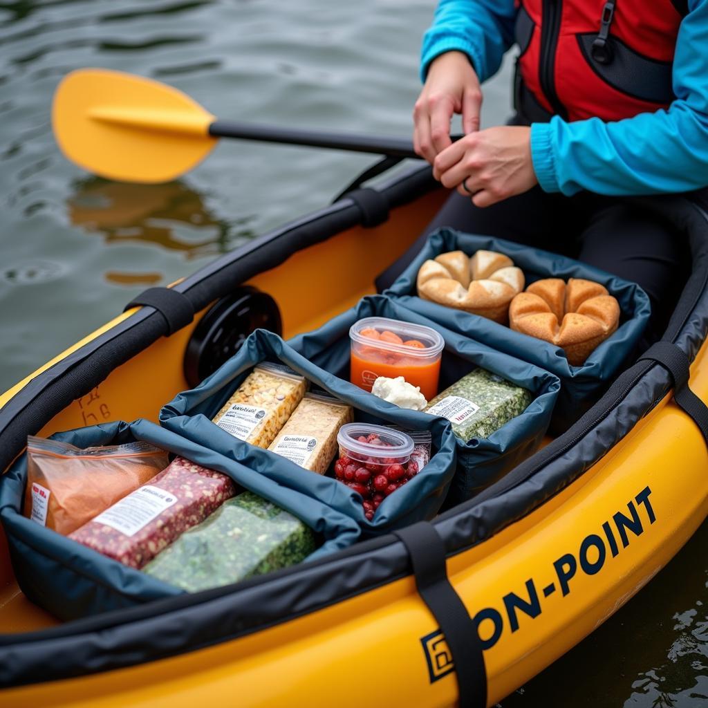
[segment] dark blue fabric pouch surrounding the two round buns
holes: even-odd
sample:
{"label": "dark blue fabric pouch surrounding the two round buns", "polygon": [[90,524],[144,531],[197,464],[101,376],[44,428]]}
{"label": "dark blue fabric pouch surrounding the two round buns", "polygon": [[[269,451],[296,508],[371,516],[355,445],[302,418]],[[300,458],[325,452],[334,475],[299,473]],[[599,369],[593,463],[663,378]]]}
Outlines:
{"label": "dark blue fabric pouch surrounding the two round buns", "polygon": [[[561,348],[547,341],[416,295],[418,270],[429,258],[458,250],[472,256],[480,249],[509,256],[514,265],[523,270],[526,285],[542,278],[584,278],[604,285],[619,303],[621,314],[617,331],[600,343],[582,365],[573,366]],[[650,314],[649,297],[633,282],[548,251],[446,228],[430,235],[421,253],[384,294],[447,329],[472,336],[493,349],[535,364],[559,377],[561,391],[551,426],[554,433],[569,428],[599,398],[634,353]]]}

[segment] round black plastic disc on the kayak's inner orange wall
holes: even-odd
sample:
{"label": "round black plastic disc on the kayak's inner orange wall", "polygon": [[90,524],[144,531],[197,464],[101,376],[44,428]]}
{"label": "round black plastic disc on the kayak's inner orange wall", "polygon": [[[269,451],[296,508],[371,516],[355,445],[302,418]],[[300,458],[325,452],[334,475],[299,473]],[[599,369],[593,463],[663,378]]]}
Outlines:
{"label": "round black plastic disc on the kayak's inner orange wall", "polygon": [[184,375],[197,386],[231,358],[255,329],[282,334],[280,309],[273,297],[244,285],[222,297],[195,327],[184,354]]}

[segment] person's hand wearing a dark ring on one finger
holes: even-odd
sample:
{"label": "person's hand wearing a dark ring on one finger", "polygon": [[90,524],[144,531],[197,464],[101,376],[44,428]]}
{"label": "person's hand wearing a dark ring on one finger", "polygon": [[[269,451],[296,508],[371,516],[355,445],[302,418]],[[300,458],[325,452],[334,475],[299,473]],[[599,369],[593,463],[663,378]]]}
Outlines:
{"label": "person's hand wearing a dark ring on one finger", "polygon": [[457,187],[478,207],[489,207],[538,183],[531,159],[531,129],[502,125],[470,133],[433,161],[433,176]]}

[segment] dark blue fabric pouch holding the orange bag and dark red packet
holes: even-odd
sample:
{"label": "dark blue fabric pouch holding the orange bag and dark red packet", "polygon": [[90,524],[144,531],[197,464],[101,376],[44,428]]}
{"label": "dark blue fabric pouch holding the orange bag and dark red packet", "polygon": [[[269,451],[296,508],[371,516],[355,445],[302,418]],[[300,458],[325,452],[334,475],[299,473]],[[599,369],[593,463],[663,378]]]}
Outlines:
{"label": "dark blue fabric pouch holding the orange bag and dark red packet", "polygon": [[[216,517],[222,510],[232,515],[240,513],[244,508],[247,512],[249,503],[252,505],[251,510],[253,510],[253,506],[258,507],[261,516],[263,516],[263,508],[269,509],[270,512],[275,510],[276,513],[280,513],[280,509],[285,510],[289,513],[287,518],[292,521],[291,528],[292,525],[297,525],[300,529],[303,528],[302,525],[297,524],[297,519],[299,519],[314,531],[314,538],[320,543],[319,548],[307,556],[307,560],[348,547],[360,536],[360,528],[351,518],[331,508],[325,502],[318,501],[312,496],[292,489],[292,487],[289,488],[287,476],[280,476],[278,470],[273,470],[268,475],[259,474],[245,465],[235,462],[234,459],[219,455],[218,452],[208,450],[206,447],[181,438],[176,433],[148,421],[104,423],[100,426],[58,433],[52,436],[52,439],[69,442],[80,448],[123,445],[139,440],[201,465],[207,468],[206,472],[222,473],[234,483],[232,486],[228,480],[219,478],[222,480],[222,484],[229,486],[229,495],[238,496],[232,496],[229,500],[224,501],[215,513],[207,517],[207,523],[212,519],[215,520],[215,523],[219,523]],[[156,554],[152,563],[145,566],[145,570],[152,573],[148,574],[148,572],[137,570],[99,553],[91,547],[87,547],[71,537],[61,535],[23,515],[27,476],[28,464],[25,453],[16,460],[0,481],[0,518],[6,531],[18,583],[23,593],[34,603],[44,607],[60,619],[77,619],[185,592],[183,583],[178,583],[180,586],[175,586],[159,578],[171,576],[168,554],[173,556],[171,565],[174,567],[176,563],[181,561],[180,557],[174,557],[176,553],[180,552],[178,544],[187,538],[190,532],[198,530],[200,527],[195,526],[185,531],[170,546]],[[212,476],[218,477],[216,474],[212,474]],[[155,486],[158,484],[158,481],[154,481]],[[244,490],[253,492],[260,499],[244,493]],[[190,495],[188,494],[188,496]],[[168,498],[166,503],[171,503],[171,501],[173,500]],[[212,499],[215,504],[221,501],[223,501],[222,498]],[[233,504],[234,501],[236,501],[235,504]],[[258,506],[261,502],[263,502],[261,506]],[[268,505],[268,502],[280,509]],[[120,502],[118,503],[120,504]],[[239,506],[241,508],[236,508]],[[193,513],[193,511],[189,513]],[[159,517],[157,518],[159,519]],[[223,523],[224,519],[219,516],[219,520]],[[81,527],[81,529],[87,527],[88,525]],[[81,535],[81,529],[76,532],[78,535]],[[113,527],[106,526],[103,530],[111,532]],[[246,533],[245,529],[244,533]],[[196,554],[195,548],[198,547],[198,553],[202,554],[203,558],[207,553],[203,540],[195,537],[195,542],[196,546],[192,544],[191,550],[193,554]],[[293,543],[295,542],[297,539],[293,541]],[[249,543],[253,545],[255,541],[251,539]],[[314,546],[314,541],[312,545],[308,542],[307,549],[311,549],[312,546]],[[231,545],[230,548],[234,549],[234,546]],[[223,547],[219,547],[216,552],[222,550]],[[294,550],[290,548],[282,552]],[[171,553],[173,551],[174,553]],[[190,548],[181,549],[181,553],[181,557],[185,559],[183,562],[183,566],[185,566]],[[239,560],[236,556],[237,551],[234,551],[232,557],[234,563]],[[268,570],[268,560],[265,558],[264,567],[261,567],[258,572]],[[159,566],[156,569],[149,569],[149,566],[154,566],[158,561]],[[218,563],[214,565],[218,566]],[[207,563],[207,566],[202,564],[200,568],[202,572],[208,571],[207,574],[210,576],[206,578],[207,586],[224,584],[214,581],[214,573],[217,570],[215,567]],[[182,580],[186,576],[188,573],[181,573],[176,577]],[[191,578],[188,579],[191,580]],[[201,588],[197,586],[195,589]]]}

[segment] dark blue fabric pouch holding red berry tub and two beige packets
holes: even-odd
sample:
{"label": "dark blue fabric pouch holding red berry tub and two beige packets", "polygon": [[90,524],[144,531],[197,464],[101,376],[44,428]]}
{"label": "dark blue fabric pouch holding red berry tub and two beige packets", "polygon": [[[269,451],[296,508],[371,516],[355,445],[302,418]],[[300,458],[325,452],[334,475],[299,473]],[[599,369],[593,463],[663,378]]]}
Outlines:
{"label": "dark blue fabric pouch holding red berry tub and two beige packets", "polygon": [[[289,367],[309,382],[310,389],[321,389],[339,401],[353,406],[355,421],[399,426],[406,430],[428,431],[431,451],[428,464],[413,479],[394,493],[386,496],[367,518],[359,493],[333,476],[316,474],[303,469],[282,455],[251,445],[212,423],[220,411],[228,410],[227,403],[236,389],[262,362],[275,362]],[[283,391],[282,396],[288,396]],[[258,404],[251,407],[254,416],[262,415]],[[248,415],[246,411],[246,415]],[[415,411],[400,409],[370,393],[362,391],[348,381],[319,368],[309,357],[297,353],[277,335],[256,330],[246,339],[238,353],[224,363],[199,387],[178,394],[160,413],[160,422],[185,438],[217,450],[220,454],[239,461],[245,467],[265,477],[287,478],[287,484],[300,493],[321,500],[328,508],[355,520],[365,535],[389,532],[422,519],[430,519],[438,512],[455,474],[455,435],[449,423]],[[233,423],[232,428],[249,437],[251,424],[246,418]],[[231,427],[232,423],[227,423]],[[261,435],[262,427],[253,427],[253,434]],[[273,431],[271,431],[272,433]],[[305,436],[307,437],[307,435]],[[261,442],[263,440],[254,440]]]}

